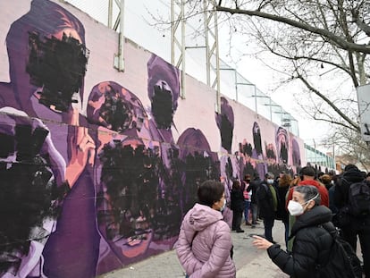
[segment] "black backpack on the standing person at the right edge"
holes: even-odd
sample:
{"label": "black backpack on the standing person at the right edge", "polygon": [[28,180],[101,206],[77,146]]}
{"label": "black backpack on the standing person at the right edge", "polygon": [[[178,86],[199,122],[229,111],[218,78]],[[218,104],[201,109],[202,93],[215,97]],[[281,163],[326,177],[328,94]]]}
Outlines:
{"label": "black backpack on the standing person at the right edge", "polygon": [[370,215],[370,187],[366,181],[349,186],[349,213],[353,216]]}

